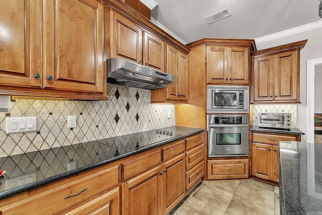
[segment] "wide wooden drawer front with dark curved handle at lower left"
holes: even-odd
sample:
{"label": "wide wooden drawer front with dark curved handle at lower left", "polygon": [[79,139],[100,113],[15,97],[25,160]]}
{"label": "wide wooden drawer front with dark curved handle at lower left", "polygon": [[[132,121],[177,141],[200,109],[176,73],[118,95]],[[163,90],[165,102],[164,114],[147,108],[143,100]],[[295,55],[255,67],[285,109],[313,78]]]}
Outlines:
{"label": "wide wooden drawer front with dark curved handle at lower left", "polygon": [[14,196],[14,200],[8,199],[11,204],[1,203],[4,206],[0,211],[2,214],[53,214],[118,184],[119,165],[98,169],[25,192],[17,201]]}

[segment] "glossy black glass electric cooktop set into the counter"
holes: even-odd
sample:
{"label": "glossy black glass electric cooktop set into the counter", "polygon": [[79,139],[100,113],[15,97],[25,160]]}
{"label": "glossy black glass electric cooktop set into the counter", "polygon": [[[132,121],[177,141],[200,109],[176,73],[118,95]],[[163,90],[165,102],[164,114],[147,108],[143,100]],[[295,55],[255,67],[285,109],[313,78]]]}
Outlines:
{"label": "glossy black glass electric cooktop set into the counter", "polygon": [[176,133],[175,128],[163,128],[101,139],[97,142],[117,150],[116,153],[122,155],[181,135]]}

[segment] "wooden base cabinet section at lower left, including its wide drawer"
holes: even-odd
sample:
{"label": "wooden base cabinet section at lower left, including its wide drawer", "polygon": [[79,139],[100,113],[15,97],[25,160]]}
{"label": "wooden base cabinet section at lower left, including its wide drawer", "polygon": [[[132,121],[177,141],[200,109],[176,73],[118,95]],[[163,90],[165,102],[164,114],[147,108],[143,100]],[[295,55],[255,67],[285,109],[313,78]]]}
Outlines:
{"label": "wooden base cabinet section at lower left, including its wide drawer", "polygon": [[[110,214],[118,214],[119,188],[113,188],[118,186],[118,176],[119,165],[98,167],[4,199],[0,201],[0,212],[65,214],[70,211],[82,213],[81,211],[102,208]],[[109,190],[111,188],[112,191]],[[107,210],[108,207],[111,208]]]}

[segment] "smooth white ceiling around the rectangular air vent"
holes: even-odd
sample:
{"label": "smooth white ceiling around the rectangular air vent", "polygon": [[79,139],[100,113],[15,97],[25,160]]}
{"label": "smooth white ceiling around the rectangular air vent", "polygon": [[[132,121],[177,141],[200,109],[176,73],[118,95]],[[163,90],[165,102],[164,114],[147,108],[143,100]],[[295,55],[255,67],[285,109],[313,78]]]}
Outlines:
{"label": "smooth white ceiling around the rectangular air vent", "polygon": [[[318,0],[154,0],[151,17],[183,42],[204,37],[255,39],[319,21]],[[210,25],[205,17],[229,8]]]}

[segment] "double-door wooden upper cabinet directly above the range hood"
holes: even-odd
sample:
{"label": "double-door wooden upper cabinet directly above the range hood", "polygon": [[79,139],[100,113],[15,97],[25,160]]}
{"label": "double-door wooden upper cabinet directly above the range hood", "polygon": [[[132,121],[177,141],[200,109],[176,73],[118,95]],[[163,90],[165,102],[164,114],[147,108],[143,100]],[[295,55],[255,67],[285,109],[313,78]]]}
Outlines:
{"label": "double-door wooden upper cabinet directly above the range hood", "polygon": [[164,40],[114,11],[107,13],[110,13],[112,22],[111,50],[108,58],[122,57],[164,71]]}

